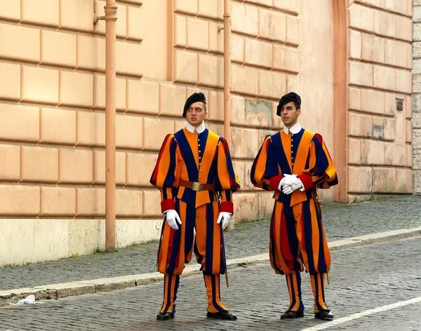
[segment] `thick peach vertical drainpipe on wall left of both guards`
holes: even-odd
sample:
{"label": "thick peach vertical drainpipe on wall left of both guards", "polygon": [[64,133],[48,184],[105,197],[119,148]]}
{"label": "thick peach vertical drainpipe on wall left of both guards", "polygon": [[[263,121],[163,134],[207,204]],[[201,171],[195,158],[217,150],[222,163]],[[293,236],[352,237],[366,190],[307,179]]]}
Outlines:
{"label": "thick peach vertical drainpipe on wall left of both guards", "polygon": [[115,0],[105,8],[105,250],[116,248],[116,20]]}

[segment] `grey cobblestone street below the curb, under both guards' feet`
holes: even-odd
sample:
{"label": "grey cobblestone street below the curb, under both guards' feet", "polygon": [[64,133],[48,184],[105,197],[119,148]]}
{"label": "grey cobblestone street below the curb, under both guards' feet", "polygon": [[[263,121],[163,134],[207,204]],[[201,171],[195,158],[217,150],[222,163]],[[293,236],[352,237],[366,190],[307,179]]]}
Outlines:
{"label": "grey cobblestone street below the curb, under both guards' feet", "polygon": [[[288,304],[285,278],[269,264],[258,264],[230,271],[230,286],[222,287],[222,301],[239,316],[236,322],[206,318],[203,278],[193,276],[180,281],[174,320],[155,319],[162,300],[162,283],[156,283],[25,310],[0,309],[0,330],[421,330],[420,237],[335,251],[332,258],[326,300],[333,322],[313,318],[307,274],[302,275],[305,318],[280,320]],[[415,298],[418,302],[405,303]],[[402,306],[385,307],[398,302]],[[360,312],[370,314],[345,320]]]}

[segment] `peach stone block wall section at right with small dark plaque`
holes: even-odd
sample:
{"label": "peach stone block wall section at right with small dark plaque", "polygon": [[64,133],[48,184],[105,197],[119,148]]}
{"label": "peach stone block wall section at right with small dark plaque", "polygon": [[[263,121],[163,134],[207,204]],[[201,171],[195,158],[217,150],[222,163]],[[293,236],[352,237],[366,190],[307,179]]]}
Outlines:
{"label": "peach stone block wall section at right with small dark plaque", "polygon": [[412,0],[348,5],[348,201],[412,193]]}

